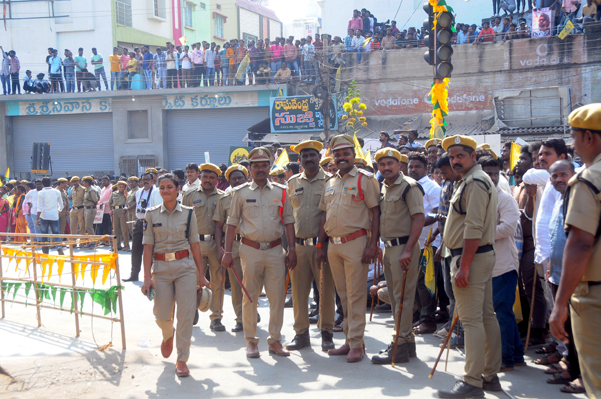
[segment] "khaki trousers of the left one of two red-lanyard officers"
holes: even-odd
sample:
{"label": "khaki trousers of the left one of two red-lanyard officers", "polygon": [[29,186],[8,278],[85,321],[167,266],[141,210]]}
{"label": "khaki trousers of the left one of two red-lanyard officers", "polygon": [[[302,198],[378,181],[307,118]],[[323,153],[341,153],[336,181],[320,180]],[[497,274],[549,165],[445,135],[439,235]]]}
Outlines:
{"label": "khaki trousers of the left one of two red-lanyard officers", "polygon": [[269,338],[271,345],[282,341],[282,325],[284,324],[284,302],[286,300],[285,256],[281,245],[271,249],[255,249],[248,245],[240,245],[240,261],[244,273],[243,284],[251,295],[252,303],[246,296],[242,299],[242,323],[246,343],[258,344],[257,335],[257,303],[261,288],[265,286],[269,300]]}

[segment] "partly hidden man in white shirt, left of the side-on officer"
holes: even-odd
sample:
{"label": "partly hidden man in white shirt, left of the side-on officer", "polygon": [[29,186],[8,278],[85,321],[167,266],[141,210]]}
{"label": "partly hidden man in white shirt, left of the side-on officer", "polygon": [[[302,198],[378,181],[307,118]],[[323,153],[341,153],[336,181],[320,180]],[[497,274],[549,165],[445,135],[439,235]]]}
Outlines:
{"label": "partly hidden man in white shirt, left of the side-on officer", "polygon": [[[434,225],[436,219],[428,216],[428,214],[438,213],[438,206],[441,201],[441,186],[428,177],[428,160],[423,154],[412,152],[407,157],[409,158],[409,166],[407,166],[409,177],[415,179],[424,189],[424,215],[426,218],[424,228],[419,236],[419,246],[421,249],[424,249],[430,228],[436,227]],[[436,252],[436,249],[440,245],[441,237],[436,236],[436,239],[432,242],[433,253]],[[439,267],[440,263],[436,262],[435,270]],[[413,329],[413,334],[430,334],[436,330],[436,297],[433,297],[432,293],[426,288],[425,278],[425,273],[420,270],[417,281],[418,296],[416,297],[416,302],[421,309],[419,315],[420,323]]]}

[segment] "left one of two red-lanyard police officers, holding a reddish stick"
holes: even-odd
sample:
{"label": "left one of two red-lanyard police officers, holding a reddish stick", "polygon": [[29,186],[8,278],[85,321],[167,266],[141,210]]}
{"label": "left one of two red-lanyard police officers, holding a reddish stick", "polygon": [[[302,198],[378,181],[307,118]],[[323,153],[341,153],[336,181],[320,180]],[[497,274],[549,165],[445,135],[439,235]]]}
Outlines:
{"label": "left one of two red-lanyard police officers, holding a reddish stick", "polygon": [[[242,237],[240,261],[244,272],[243,283],[252,297],[252,303],[245,296],[242,300],[246,356],[258,358],[257,347],[257,303],[261,286],[265,286],[269,299],[269,353],[290,356],[282,347],[281,329],[284,323],[284,261],[288,268],[296,266],[296,246],[294,243],[294,216],[290,198],[285,186],[271,183],[268,179],[271,166],[271,152],[264,147],[254,148],[248,154],[251,165],[252,183],[245,183],[234,189],[231,200],[228,228],[225,232],[225,255],[222,264],[233,264],[232,246],[236,230]],[[282,234],[288,237],[288,252],[284,259]],[[365,283],[364,283],[365,285]]]}

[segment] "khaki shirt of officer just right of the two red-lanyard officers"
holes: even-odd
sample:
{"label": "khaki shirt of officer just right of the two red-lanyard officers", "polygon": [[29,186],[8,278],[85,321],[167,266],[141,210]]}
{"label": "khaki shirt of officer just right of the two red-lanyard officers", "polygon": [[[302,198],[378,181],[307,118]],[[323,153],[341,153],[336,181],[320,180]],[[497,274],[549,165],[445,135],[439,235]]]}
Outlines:
{"label": "khaki shirt of officer just right of the two red-lanyard officers", "polygon": [[[403,172],[390,186],[384,180],[380,200],[380,237],[383,241],[409,236],[413,223],[411,217],[424,213],[424,194],[417,184],[417,181],[405,176]],[[401,198],[407,185],[411,188]]]}

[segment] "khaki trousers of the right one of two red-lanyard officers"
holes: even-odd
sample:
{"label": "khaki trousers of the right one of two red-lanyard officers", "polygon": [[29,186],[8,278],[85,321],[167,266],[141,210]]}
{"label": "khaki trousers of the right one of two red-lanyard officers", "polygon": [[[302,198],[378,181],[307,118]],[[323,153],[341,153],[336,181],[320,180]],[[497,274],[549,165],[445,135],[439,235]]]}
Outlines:
{"label": "khaki trousers of the right one of two red-lanyard officers", "polygon": [[344,313],[345,343],[353,349],[364,346],[367,303],[365,282],[369,265],[361,260],[366,246],[367,236],[343,244],[328,245],[328,261]]}

